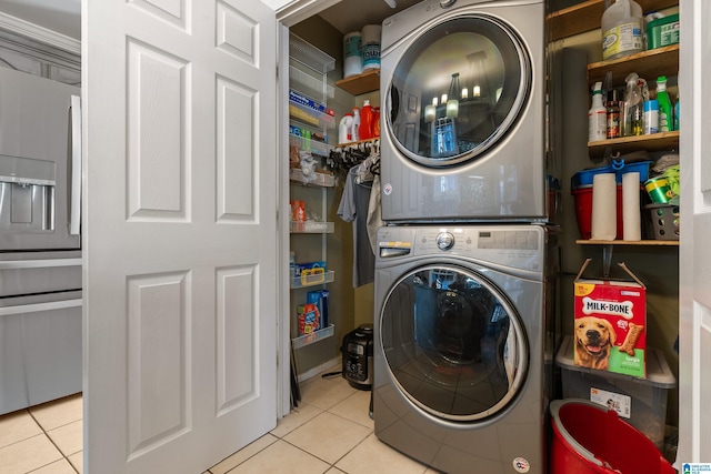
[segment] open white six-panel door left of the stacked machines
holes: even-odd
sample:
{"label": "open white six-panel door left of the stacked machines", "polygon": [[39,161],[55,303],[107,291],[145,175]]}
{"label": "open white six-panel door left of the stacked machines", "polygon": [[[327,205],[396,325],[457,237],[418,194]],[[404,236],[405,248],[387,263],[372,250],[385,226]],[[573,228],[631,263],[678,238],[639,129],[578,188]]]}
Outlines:
{"label": "open white six-panel door left of the stacked machines", "polygon": [[84,473],[203,472],[277,422],[277,21],[82,2]]}

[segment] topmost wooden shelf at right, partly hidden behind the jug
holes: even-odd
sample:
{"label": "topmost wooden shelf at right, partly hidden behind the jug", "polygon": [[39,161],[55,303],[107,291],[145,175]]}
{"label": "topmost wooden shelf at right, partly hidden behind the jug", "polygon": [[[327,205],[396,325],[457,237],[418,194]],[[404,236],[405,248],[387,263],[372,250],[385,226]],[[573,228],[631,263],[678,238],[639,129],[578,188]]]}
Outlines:
{"label": "topmost wooden shelf at right, partly hidden behind the jug", "polygon": [[[635,0],[643,12],[677,7],[679,0]],[[605,0],[588,0],[551,12],[547,17],[549,41],[555,41],[600,28]]]}

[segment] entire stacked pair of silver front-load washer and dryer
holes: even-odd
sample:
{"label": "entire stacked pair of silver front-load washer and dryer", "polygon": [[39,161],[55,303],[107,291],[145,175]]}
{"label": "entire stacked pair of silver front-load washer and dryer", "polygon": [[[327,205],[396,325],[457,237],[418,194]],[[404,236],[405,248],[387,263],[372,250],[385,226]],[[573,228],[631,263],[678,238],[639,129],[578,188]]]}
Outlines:
{"label": "entire stacked pair of silver front-load washer and dryer", "polygon": [[383,22],[373,420],[447,473],[547,472],[544,12],[425,0]]}

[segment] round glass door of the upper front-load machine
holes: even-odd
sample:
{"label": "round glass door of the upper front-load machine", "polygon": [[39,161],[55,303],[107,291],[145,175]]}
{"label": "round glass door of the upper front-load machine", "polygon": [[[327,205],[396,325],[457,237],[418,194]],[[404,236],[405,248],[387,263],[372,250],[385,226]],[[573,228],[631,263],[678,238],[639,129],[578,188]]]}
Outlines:
{"label": "round glass door of the upper front-load machine", "polygon": [[527,49],[501,20],[471,14],[439,23],[393,70],[388,132],[404,155],[427,167],[474,160],[515,123],[531,73]]}

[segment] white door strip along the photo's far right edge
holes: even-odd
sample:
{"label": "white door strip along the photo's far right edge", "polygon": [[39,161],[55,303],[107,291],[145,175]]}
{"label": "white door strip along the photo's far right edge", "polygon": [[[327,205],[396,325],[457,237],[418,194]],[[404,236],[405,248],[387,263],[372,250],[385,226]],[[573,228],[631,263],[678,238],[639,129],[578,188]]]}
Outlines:
{"label": "white door strip along the photo's far right edge", "polygon": [[[711,2],[681,0],[679,465],[711,463]],[[683,471],[685,472],[685,471]]]}

